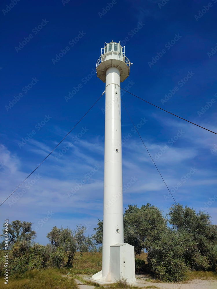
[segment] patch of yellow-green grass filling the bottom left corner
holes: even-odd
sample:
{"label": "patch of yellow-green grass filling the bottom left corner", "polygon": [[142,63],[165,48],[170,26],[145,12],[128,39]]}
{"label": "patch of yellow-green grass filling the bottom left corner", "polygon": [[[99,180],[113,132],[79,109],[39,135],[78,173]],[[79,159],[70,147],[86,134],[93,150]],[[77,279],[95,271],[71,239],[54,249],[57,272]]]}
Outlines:
{"label": "patch of yellow-green grass filling the bottom left corner", "polygon": [[77,289],[73,279],[64,278],[59,275],[56,269],[47,269],[43,271],[27,271],[21,277],[9,277],[9,282],[4,284],[1,278],[1,288],[8,289]]}

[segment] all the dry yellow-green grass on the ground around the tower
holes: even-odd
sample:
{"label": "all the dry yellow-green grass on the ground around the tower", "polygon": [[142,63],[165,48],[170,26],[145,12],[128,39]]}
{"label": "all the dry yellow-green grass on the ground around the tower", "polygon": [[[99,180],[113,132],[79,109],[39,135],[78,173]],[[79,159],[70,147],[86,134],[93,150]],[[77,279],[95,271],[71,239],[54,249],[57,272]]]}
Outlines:
{"label": "all the dry yellow-green grass on the ground around the tower", "polygon": [[[74,278],[84,281],[82,275],[93,275],[102,270],[102,253],[76,253],[76,260],[73,261],[73,268],[71,269],[55,269],[48,268],[45,270],[33,270],[27,271],[22,276],[16,275],[9,277],[9,285],[4,284],[4,279],[1,278],[1,288],[8,289],[77,289]],[[146,262],[146,253],[137,256]],[[62,274],[68,274],[72,279],[62,277]],[[187,273],[187,280],[195,278],[217,279],[216,272],[210,271],[192,271]],[[149,279],[154,281],[153,279]],[[159,280],[155,280],[159,282]],[[86,281],[84,281],[87,283]],[[114,284],[113,288],[129,288],[129,286],[123,287],[122,284]],[[130,287],[133,288],[133,287]],[[135,287],[134,287],[135,288]],[[148,287],[146,287],[148,288]],[[149,287],[155,288],[155,287]]]}

